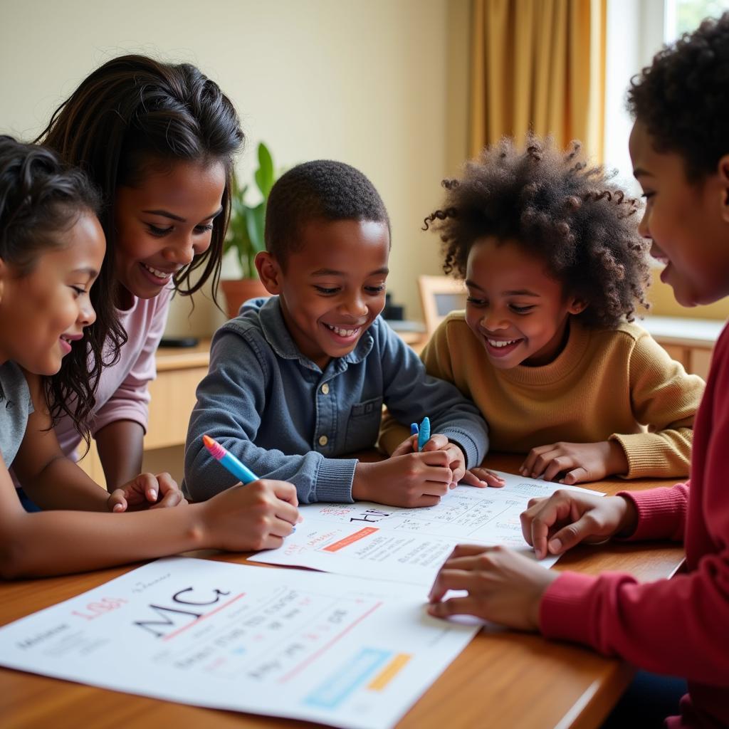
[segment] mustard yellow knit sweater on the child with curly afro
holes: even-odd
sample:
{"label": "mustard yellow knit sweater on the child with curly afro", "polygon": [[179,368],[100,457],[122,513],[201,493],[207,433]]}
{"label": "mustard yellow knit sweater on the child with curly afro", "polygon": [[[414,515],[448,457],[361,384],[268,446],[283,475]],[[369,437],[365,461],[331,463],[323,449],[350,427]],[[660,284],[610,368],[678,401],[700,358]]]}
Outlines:
{"label": "mustard yellow knit sweater on the child with curly afro", "polygon": [[[588,329],[572,319],[569,339],[554,362],[498,370],[464,312],[454,311],[421,357],[429,374],[451,381],[480,408],[492,451],[526,453],[558,441],[617,440],[628,459],[628,478],[689,472],[703,380],[688,375],[637,324]],[[380,445],[391,453],[408,434],[386,414]]]}

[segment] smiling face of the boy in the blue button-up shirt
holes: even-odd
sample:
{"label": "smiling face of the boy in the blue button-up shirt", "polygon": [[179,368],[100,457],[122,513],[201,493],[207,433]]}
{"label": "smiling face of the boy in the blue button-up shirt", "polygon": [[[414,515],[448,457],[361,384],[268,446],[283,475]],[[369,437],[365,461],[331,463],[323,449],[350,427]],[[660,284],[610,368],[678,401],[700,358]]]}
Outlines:
{"label": "smiling face of the boy in the blue button-up shirt", "polygon": [[285,267],[258,254],[261,280],[281,297],[289,333],[322,370],[349,354],[383,310],[389,252],[385,222],[318,219],[303,226]]}

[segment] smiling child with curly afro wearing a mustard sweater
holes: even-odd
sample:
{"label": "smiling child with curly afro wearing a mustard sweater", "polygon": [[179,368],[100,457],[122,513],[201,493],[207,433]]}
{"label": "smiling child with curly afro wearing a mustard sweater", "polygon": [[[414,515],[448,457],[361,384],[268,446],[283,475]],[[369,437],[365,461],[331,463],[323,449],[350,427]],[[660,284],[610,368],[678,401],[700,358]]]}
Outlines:
{"label": "smiling child with curly afro wearing a mustard sweater", "polygon": [[[686,475],[703,381],[631,323],[649,271],[636,200],[579,144],[536,137],[525,149],[503,139],[443,184],[425,227],[468,298],[422,356],[476,402],[491,448],[528,453],[523,475],[567,484]],[[402,435],[388,420],[381,442]]]}

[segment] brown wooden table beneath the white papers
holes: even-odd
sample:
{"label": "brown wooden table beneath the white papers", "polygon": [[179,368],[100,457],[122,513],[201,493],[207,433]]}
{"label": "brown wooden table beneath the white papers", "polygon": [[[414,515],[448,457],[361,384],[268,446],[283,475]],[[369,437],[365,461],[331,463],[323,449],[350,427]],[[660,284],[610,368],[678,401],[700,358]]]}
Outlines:
{"label": "brown wooden table beneath the white papers", "polygon": [[[490,456],[488,465],[514,471],[516,456]],[[615,494],[666,481],[588,484]],[[195,553],[244,563],[243,555]],[[669,577],[683,559],[668,543],[578,547],[555,569],[596,573],[631,572],[640,580]],[[71,577],[0,582],[0,624],[69,599],[112,580],[136,565]],[[265,569],[265,568],[261,568]],[[276,568],[274,568],[276,569]],[[113,674],[114,666],[109,666]],[[508,631],[480,633],[399,723],[400,729],[585,729],[599,727],[631,680],[633,669],[620,660],[540,636]],[[160,682],[164,676],[160,675]],[[313,727],[252,714],[183,706],[141,696],[0,668],[0,725],[19,728],[225,729]]]}

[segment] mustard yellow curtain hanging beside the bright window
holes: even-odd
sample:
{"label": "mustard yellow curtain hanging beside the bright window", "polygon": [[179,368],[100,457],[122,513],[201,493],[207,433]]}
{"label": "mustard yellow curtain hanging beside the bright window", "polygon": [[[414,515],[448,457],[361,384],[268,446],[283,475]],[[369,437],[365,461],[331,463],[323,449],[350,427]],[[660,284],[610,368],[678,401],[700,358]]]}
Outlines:
{"label": "mustard yellow curtain hanging beside the bright window", "polygon": [[531,130],[603,157],[607,0],[472,0],[470,152]]}

